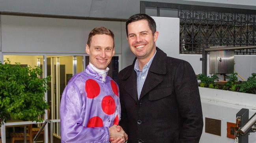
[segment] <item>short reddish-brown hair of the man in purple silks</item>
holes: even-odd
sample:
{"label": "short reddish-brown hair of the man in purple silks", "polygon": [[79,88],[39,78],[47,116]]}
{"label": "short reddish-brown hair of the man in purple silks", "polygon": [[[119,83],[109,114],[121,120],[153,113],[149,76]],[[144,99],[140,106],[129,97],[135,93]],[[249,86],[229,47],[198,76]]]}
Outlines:
{"label": "short reddish-brown hair of the man in purple silks", "polygon": [[[92,31],[89,33],[89,36],[88,36],[87,45],[89,47],[91,45],[92,36],[94,36],[96,34],[109,35],[113,38],[113,42],[114,42],[114,33],[111,30],[107,29],[106,27],[95,27],[95,28],[92,29]],[[115,47],[115,42],[114,42],[114,47]]]}

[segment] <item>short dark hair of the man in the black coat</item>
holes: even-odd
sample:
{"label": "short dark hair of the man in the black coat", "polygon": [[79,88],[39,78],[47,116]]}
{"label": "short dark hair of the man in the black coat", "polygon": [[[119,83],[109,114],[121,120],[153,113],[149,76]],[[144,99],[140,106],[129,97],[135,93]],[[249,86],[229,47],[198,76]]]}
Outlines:
{"label": "short dark hair of the man in the black coat", "polygon": [[155,20],[148,16],[147,14],[134,14],[133,16],[131,16],[127,21],[126,21],[126,36],[128,36],[128,24],[138,21],[138,20],[147,20],[148,21],[148,26],[150,28],[150,30],[152,31],[152,34],[155,33],[155,31],[157,31],[157,26],[155,25]]}

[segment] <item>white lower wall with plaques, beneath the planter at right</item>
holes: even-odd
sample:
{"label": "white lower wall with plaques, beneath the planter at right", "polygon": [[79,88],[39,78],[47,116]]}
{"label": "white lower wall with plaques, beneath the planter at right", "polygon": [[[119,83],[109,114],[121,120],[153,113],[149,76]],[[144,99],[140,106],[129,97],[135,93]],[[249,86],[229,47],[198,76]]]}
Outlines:
{"label": "white lower wall with plaques, beneath the planter at right", "polygon": [[[240,109],[249,109],[249,118],[256,112],[256,94],[247,94],[219,89],[199,87],[203,118],[221,120],[221,136],[205,132],[200,143],[234,143],[234,139],[227,138],[227,122],[235,123],[237,112]],[[250,133],[249,143],[256,143],[256,134]]]}

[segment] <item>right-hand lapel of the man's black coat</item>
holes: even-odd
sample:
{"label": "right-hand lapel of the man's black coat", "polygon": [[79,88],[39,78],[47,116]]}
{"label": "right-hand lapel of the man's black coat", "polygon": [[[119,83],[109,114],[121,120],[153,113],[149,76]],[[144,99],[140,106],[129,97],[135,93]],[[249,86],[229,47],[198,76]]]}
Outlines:
{"label": "right-hand lapel of the man's black coat", "polygon": [[140,99],[163,81],[162,76],[160,76],[163,74],[166,74],[166,54],[157,47],[157,53],[150,65],[147,78],[140,93]]}

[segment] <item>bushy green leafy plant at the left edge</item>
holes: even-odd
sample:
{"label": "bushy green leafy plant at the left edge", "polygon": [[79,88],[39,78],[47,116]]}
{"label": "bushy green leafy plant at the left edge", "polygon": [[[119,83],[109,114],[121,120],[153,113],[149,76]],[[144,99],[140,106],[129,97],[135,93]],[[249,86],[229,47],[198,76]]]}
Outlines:
{"label": "bushy green leafy plant at the left edge", "polygon": [[0,62],[0,127],[10,119],[43,121],[39,118],[49,108],[44,100],[50,76],[39,78],[39,67],[12,65],[9,59]]}

